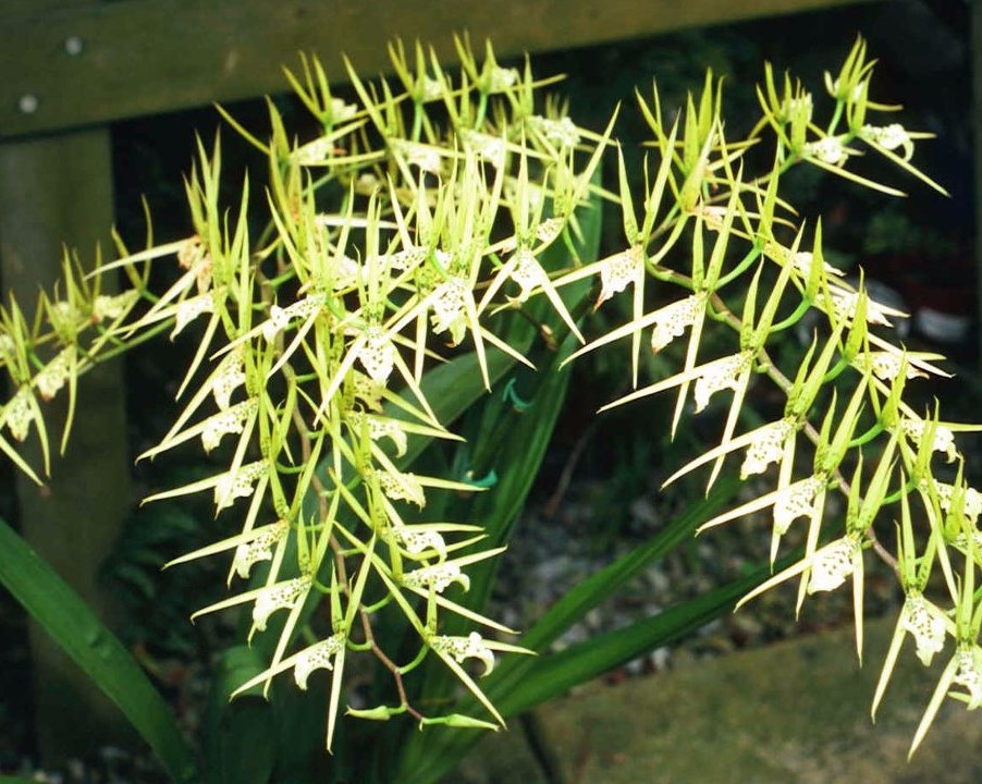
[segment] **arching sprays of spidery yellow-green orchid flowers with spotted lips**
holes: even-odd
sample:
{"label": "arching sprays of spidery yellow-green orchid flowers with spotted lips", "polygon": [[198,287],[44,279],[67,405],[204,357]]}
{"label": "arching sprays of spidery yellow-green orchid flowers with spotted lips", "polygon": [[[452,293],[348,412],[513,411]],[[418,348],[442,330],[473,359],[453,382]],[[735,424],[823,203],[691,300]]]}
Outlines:
{"label": "arching sprays of spidery yellow-green orchid flowers with spotted lips", "polygon": [[[926,134],[873,122],[892,107],[869,98],[872,63],[863,42],[837,76],[827,75],[833,110],[825,125],[815,119],[819,100],[790,77],[780,88],[770,68],[759,88],[763,117],[740,140],[726,138],[711,75],[701,96],[690,96],[671,121],[656,90],[651,98],[639,91],[658,164],[649,169],[646,159],[638,176],[617,148],[617,194],[594,176],[615,148],[613,120],[597,134],[576,125],[561,105],[543,105],[539,94],[551,81],[537,81],[528,64],[504,68],[490,46],[479,62],[466,39],[457,41],[456,78],[420,45],[407,51],[395,44],[390,53],[395,76],[377,84],[347,64],[355,102],[332,94],[316,60],[304,58],[299,74],[287,72],[321,125],[304,144],[287,135],[272,105],[268,142],[226,115],[269,158],[269,225],[258,238],[249,236],[245,196],[237,215],[220,208],[219,145],[211,154],[199,145],[186,183],[191,236],[137,253],[120,242],[121,258],[95,277],[66,262],[63,298],[44,297],[33,326],[15,304],[2,313],[0,360],[13,394],[0,427],[23,441],[34,425],[46,470],[45,400],[64,384],[74,400],[78,373],[149,334],[200,330],[179,393],[187,403],[143,456],[200,438],[206,452],[226,455],[228,464],[147,500],[209,491],[216,514],[245,510],[241,532],[173,562],[231,553],[230,585],[249,586],[197,614],[250,605],[249,637],[278,635],[267,670],[240,691],[269,688],[287,671],[306,688],[312,672],[329,671],[330,747],[346,659],[369,654],[391,673],[397,701],[349,708],[353,715],[503,724],[470,660],[488,674],[495,653],[528,651],[498,639],[512,629],[453,598],[468,589],[468,567],[503,548],[483,547],[479,525],[420,518],[431,493],[482,492],[489,482],[467,471],[446,478],[408,467],[417,442],[461,438],[438,414],[442,401],[428,392],[431,368],[472,346],[477,372],[491,389],[493,357],[532,365],[527,345],[503,336],[501,316],[523,314],[544,297],[582,343],[566,362],[629,339],[633,389],[605,407],[674,390],[674,433],[690,391],[696,414],[719,412],[720,397],[732,393],[720,443],[668,482],[711,466],[709,489],[734,453],[744,479],[776,474],[772,491],[703,526],[771,510],[773,564],[791,527],[807,524],[800,560],[744,601],[798,578],[800,609],[809,595],[851,581],[861,656],[863,561],[873,552],[907,597],[874,710],[907,634],[925,665],[949,638],[953,644],[911,751],[946,694],[969,708],[982,703],[982,602],[974,589],[982,495],[962,479],[956,441],[978,428],[940,421],[936,412],[905,402],[908,383],[944,375],[933,364],[940,357],[889,340],[892,320],[904,314],[870,297],[861,278],[849,282],[826,264],[821,223],[795,222],[781,197],[782,177],[800,164],[899,193],[852,168],[861,148],[941,189],[910,162]],[[773,163],[750,175],[748,151],[766,137],[775,145]],[[579,217],[598,198],[619,205],[626,243],[604,258],[580,258]],[[551,249],[564,250],[563,266],[551,260]],[[165,257],[176,257],[179,274],[154,294],[146,266]],[[100,294],[101,275],[118,269],[132,290]],[[584,308],[568,295],[580,282],[593,282],[594,309],[626,298],[627,321],[587,341]],[[666,292],[677,296],[665,303]],[[809,311],[819,315],[811,345],[796,367],[782,367],[770,348]],[[647,352],[673,356],[686,340],[678,372],[641,382],[642,343]],[[783,414],[740,432],[752,388],[766,382],[785,400]],[[37,478],[3,437],[0,449]],[[833,492],[846,499],[844,519],[825,514]],[[895,522],[893,552],[880,539],[884,520]],[[935,567],[940,591],[930,579]],[[402,664],[376,634],[381,611],[392,607],[418,639],[418,654]],[[309,622],[321,608],[321,625],[330,628],[310,640]],[[483,630],[444,634],[449,615]],[[273,624],[274,617],[285,620]],[[297,649],[302,630],[307,645]],[[493,723],[425,714],[412,703],[404,678],[428,654]]]}

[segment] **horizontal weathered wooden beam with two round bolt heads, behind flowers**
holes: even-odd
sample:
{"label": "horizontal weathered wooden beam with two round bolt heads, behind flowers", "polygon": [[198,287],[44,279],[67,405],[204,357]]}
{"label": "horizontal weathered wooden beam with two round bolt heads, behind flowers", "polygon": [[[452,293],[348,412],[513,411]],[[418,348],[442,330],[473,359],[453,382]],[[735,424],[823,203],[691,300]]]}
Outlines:
{"label": "horizontal weathered wooden beam with two round bolt heads, behind flowers", "polygon": [[506,57],[872,1],[119,0],[7,13],[0,138],[280,93],[298,50],[343,79],[342,52],[383,71],[396,36],[451,60],[466,29]]}

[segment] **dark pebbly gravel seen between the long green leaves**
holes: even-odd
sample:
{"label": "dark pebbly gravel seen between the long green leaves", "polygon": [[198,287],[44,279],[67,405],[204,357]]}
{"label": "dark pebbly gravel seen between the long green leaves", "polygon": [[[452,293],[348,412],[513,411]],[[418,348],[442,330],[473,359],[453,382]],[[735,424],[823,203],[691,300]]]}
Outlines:
{"label": "dark pebbly gravel seen between the long green leaves", "polygon": [[[765,480],[766,481],[766,480]],[[736,503],[766,492],[766,485],[750,483],[741,489]],[[548,514],[549,503],[529,510],[520,522],[508,551],[502,555],[502,579],[508,586],[511,601],[501,602],[496,617],[514,628],[528,628],[556,599],[574,585],[613,560],[643,543],[680,511],[684,500],[659,498],[653,492],[636,498],[629,505],[629,518],[618,529],[616,539],[603,551],[598,550],[598,523],[590,503],[600,488],[586,485],[570,491],[555,514]],[[837,500],[832,499],[830,503]],[[664,559],[653,562],[636,577],[609,605],[590,611],[560,638],[555,648],[609,632],[635,620],[655,615],[677,603],[698,597],[726,581],[757,568],[770,552],[770,518],[760,515],[714,528],[685,542]],[[789,531],[782,543],[787,552],[798,543]],[[899,605],[899,595],[886,569],[868,559],[866,613],[880,616]],[[851,592],[837,591],[811,598],[801,616],[795,618],[797,581],[770,591],[740,611],[704,626],[693,636],[671,648],[659,648],[612,673],[615,679],[672,666],[673,659],[701,659],[722,656],[733,650],[756,648],[803,634],[837,628],[851,623]]]}

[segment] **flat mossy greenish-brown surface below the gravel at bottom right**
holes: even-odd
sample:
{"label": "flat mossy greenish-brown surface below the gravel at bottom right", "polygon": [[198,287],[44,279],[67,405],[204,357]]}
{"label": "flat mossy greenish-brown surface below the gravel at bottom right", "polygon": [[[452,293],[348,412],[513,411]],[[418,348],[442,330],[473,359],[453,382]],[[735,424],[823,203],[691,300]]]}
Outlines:
{"label": "flat mossy greenish-brown surface below the gravel at bottom right", "polygon": [[870,702],[893,621],[868,623],[866,665],[843,628],[670,672],[592,685],[538,711],[561,769],[550,781],[517,723],[490,736],[445,784],[971,784],[982,781],[982,721],[947,700],[907,761],[948,650],[929,671],[900,656]]}

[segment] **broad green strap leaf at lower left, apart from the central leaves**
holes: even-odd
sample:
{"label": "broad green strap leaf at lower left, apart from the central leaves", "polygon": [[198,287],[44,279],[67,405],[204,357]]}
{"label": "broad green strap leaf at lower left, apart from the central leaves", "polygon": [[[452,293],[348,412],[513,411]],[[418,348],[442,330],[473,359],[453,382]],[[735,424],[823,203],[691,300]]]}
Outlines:
{"label": "broad green strap leaf at lower left, apart from the central leaves", "polygon": [[197,781],[170,708],[139,664],[86,602],[0,519],[0,583],[115,702],[175,782]]}

